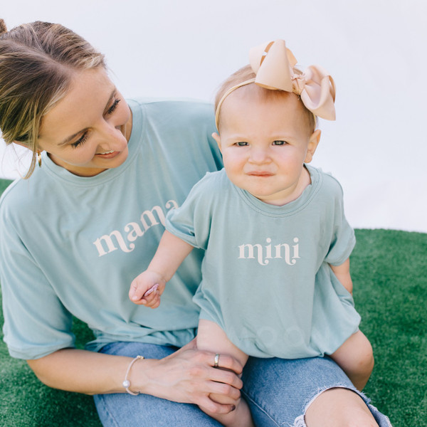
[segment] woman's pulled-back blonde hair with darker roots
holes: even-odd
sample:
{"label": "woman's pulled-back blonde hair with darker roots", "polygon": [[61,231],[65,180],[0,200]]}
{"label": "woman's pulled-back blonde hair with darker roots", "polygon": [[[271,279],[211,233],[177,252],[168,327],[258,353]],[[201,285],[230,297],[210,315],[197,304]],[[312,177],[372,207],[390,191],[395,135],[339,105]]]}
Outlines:
{"label": "woman's pulled-back blonde hair with darker roots", "polygon": [[33,152],[43,116],[61,100],[76,70],[105,68],[104,56],[84,38],[57,24],[36,21],[11,31],[0,19],[0,130],[6,144],[20,142]]}

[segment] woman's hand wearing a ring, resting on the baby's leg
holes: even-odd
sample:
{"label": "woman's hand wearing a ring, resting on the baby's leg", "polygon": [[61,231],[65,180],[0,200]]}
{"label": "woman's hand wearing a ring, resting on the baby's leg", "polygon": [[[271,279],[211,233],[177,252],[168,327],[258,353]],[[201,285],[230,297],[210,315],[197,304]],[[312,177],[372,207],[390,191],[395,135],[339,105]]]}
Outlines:
{"label": "woman's hand wearing a ring, resting on the baby's leg", "polygon": [[[228,413],[238,403],[243,386],[242,366],[233,357],[222,355],[221,368],[214,368],[215,354],[196,349],[195,340],[164,359],[144,359],[132,372],[131,383],[139,391],[176,402],[196,404],[212,413]],[[221,394],[228,404],[218,404],[209,394]]]}

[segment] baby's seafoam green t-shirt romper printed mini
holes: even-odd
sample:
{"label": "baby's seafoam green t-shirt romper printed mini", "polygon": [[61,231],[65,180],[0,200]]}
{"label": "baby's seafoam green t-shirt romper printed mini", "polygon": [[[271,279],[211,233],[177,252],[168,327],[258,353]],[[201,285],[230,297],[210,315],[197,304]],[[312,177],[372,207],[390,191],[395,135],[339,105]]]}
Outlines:
{"label": "baby's seafoam green t-shirt romper printed mini", "polygon": [[329,264],[354,248],[342,189],[307,165],[311,184],[285,206],[234,186],[224,170],[206,174],[167,230],[206,250],[194,301],[246,354],[294,359],[334,352],[357,331],[352,296]]}

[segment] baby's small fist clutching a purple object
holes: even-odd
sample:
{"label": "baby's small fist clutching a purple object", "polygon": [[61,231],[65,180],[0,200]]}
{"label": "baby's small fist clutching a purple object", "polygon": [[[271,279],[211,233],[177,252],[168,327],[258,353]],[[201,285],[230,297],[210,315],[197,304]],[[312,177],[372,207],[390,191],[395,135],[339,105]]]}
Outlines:
{"label": "baby's small fist clutching a purple object", "polygon": [[162,276],[149,270],[138,275],[131,283],[129,297],[138,305],[157,308],[166,282]]}

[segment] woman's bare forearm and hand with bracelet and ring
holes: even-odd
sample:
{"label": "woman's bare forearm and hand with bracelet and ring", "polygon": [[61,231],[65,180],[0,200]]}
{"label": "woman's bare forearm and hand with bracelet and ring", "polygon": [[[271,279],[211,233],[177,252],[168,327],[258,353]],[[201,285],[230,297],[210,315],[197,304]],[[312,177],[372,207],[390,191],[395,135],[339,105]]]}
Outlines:
{"label": "woman's bare forearm and hand with bracelet and ring", "polygon": [[[130,389],[171,401],[196,404],[214,413],[228,413],[240,398],[241,364],[221,355],[221,367],[215,369],[215,354],[201,352],[193,342],[164,359],[141,359],[133,364],[128,379]],[[132,358],[61,349],[28,360],[38,379],[47,386],[84,394],[122,393],[122,382]],[[236,372],[236,374],[234,373]],[[229,404],[218,404],[209,394],[222,394]]]}

